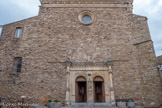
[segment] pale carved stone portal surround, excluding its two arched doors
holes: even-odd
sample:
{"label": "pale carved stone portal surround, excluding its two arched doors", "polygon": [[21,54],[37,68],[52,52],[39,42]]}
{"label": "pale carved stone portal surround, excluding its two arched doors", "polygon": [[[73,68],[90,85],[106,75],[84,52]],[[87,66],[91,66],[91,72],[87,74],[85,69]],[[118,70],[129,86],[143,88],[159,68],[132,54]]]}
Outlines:
{"label": "pale carved stone portal surround, excluding its two arched doors", "polygon": [[[67,70],[70,72],[67,74],[67,87],[70,88],[70,91],[66,91],[66,102],[69,102],[68,104],[75,103],[75,81],[77,77],[84,76],[87,79],[87,103],[93,103],[93,81],[96,76],[101,76],[105,82],[105,102],[114,105],[115,96],[112,80],[112,66],[114,61],[109,58],[106,62],[76,62],[68,58],[65,64],[67,65]],[[66,105],[68,106],[67,103]]]}

